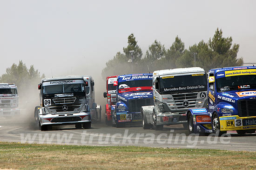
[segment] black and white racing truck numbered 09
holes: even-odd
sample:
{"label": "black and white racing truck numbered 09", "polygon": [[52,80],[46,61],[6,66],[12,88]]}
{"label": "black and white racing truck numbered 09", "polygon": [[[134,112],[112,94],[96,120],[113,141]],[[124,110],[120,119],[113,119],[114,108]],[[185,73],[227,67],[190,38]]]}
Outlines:
{"label": "black and white racing truck numbered 09", "polygon": [[42,79],[40,107],[35,107],[34,117],[40,130],[53,125],[74,124],[76,128],[91,128],[91,114],[87,94],[92,92],[88,77],[66,76]]}

